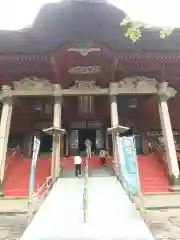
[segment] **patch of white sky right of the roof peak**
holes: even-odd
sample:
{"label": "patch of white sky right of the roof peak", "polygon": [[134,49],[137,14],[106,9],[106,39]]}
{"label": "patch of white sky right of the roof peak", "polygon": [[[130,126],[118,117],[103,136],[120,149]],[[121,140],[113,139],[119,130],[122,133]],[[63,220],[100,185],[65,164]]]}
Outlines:
{"label": "patch of white sky right of the roof peak", "polygon": [[180,27],[180,0],[109,0],[131,19],[154,26]]}

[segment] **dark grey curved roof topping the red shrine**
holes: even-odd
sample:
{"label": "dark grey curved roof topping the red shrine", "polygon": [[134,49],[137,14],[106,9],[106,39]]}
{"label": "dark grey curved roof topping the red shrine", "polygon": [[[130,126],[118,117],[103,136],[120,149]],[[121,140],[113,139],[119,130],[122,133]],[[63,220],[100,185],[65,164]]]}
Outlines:
{"label": "dark grey curved roof topping the red shrine", "polygon": [[107,3],[63,1],[45,5],[32,28],[0,31],[0,54],[54,51],[64,43],[96,41],[115,51],[179,51],[180,30],[167,39],[159,32],[143,33],[133,44],[120,27],[125,13]]}

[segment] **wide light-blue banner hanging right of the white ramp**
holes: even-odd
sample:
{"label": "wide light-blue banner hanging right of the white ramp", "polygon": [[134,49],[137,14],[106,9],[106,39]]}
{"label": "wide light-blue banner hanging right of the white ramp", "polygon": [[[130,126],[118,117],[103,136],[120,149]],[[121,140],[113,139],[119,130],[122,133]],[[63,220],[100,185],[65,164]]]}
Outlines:
{"label": "wide light-blue banner hanging right of the white ramp", "polygon": [[136,194],[140,191],[140,184],[134,137],[120,137],[118,148],[120,153],[122,184],[128,192]]}

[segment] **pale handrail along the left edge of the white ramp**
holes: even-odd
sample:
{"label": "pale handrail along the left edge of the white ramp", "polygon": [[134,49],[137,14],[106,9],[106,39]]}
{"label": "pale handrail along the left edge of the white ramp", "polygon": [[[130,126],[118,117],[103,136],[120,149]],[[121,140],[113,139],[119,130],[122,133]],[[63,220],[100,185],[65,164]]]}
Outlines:
{"label": "pale handrail along the left edge of the white ramp", "polygon": [[[33,204],[36,203],[38,200],[40,200],[41,198],[43,199],[46,196],[46,193],[48,192],[48,190],[51,187],[51,177],[47,177],[46,181],[36,189],[36,192],[34,192],[31,196],[29,196],[28,198],[28,222],[31,221],[32,217],[33,217]],[[43,194],[42,191],[44,190]],[[40,203],[41,204],[41,203]]]}

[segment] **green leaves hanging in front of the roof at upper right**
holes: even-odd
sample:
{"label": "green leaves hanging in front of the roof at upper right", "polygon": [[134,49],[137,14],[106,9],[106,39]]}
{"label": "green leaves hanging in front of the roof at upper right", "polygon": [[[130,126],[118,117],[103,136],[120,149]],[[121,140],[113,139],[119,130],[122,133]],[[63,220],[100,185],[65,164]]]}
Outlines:
{"label": "green leaves hanging in front of the roof at upper right", "polygon": [[[127,39],[132,40],[133,42],[136,42],[139,40],[142,36],[142,29],[148,29],[151,28],[151,26],[143,24],[143,23],[133,23],[129,17],[126,17],[122,22],[121,26],[125,26],[126,33],[125,36]],[[173,28],[163,28],[160,29],[160,38],[166,38],[171,35],[173,32]]]}

